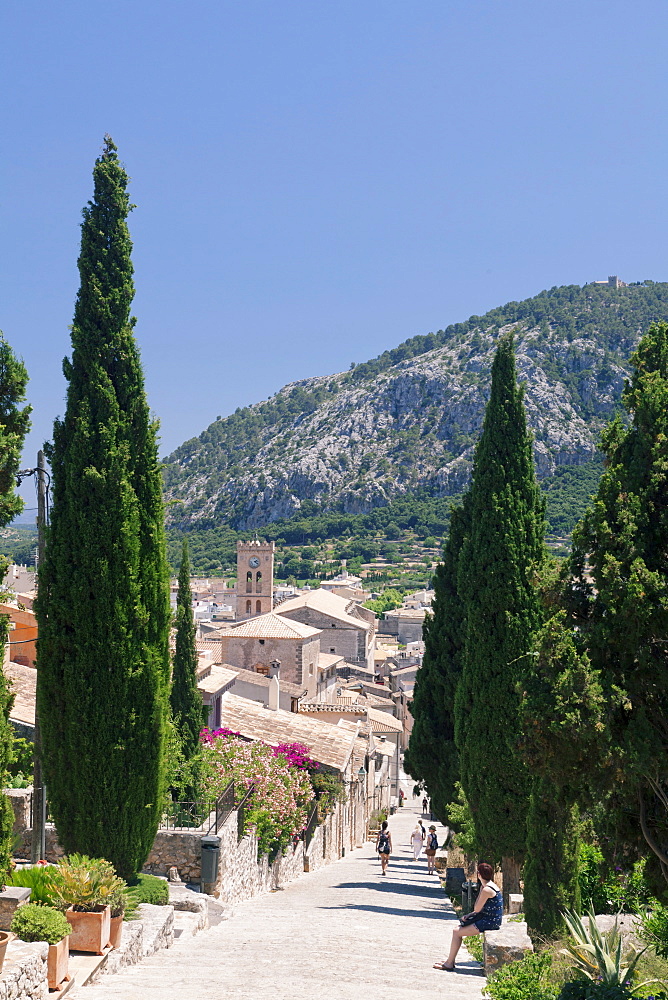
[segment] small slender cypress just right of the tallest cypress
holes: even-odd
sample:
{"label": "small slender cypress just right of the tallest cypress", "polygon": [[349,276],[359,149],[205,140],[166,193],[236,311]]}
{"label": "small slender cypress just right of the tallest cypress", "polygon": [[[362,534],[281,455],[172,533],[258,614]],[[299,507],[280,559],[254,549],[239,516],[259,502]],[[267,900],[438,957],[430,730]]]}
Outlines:
{"label": "small slender cypress just right of the tallest cypress", "polygon": [[[185,760],[190,761],[199,747],[199,734],[204,725],[204,705],[197,687],[195,617],[190,590],[188,543],[185,539],[176,598],[176,649],[172,665],[172,690],[169,700],[181,752]],[[194,798],[195,789],[191,788],[188,791],[186,798]]]}

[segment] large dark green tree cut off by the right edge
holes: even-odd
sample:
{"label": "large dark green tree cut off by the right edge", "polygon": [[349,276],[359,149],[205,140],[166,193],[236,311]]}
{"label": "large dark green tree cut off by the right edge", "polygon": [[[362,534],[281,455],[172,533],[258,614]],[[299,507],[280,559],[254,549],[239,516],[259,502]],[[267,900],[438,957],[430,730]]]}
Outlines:
{"label": "large dark green tree cut off by the right edge", "polygon": [[590,768],[605,797],[601,846],[649,847],[650,876],[668,880],[668,325],[650,327],[631,360],[630,423],[603,436],[606,469],[564,598],[606,702],[608,752]]}

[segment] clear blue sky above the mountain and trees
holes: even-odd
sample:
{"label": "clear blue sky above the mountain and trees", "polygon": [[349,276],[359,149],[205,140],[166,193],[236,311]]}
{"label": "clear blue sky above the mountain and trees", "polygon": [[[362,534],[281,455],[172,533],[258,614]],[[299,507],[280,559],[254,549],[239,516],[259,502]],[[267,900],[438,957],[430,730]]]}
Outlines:
{"label": "clear blue sky above the mountain and trees", "polygon": [[164,455],[542,288],[665,280],[667,28],[666,0],[5,4],[0,329],[31,376],[26,464],[64,410],[105,132]]}

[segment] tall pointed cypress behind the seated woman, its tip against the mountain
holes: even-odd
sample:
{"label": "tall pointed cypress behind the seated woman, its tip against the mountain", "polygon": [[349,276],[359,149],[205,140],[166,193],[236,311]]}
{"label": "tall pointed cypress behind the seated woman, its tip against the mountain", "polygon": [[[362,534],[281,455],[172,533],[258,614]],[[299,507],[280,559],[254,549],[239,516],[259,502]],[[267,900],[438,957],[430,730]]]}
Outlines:
{"label": "tall pointed cypress behind the seated woman, its tip against the mountain", "polygon": [[541,622],[533,582],[544,558],[545,502],[534,473],[512,335],[499,342],[470,494],[471,530],[459,559],[466,609],[455,699],[461,782],[476,835],[517,891],[529,776],[518,752],[517,681]]}

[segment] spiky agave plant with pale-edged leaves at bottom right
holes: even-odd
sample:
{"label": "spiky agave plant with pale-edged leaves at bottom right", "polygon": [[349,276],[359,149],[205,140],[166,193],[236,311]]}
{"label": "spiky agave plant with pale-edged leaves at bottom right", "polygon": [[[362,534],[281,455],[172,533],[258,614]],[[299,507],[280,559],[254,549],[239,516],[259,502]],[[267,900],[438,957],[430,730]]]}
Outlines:
{"label": "spiky agave plant with pale-edged leaves at bottom right", "polygon": [[572,910],[565,910],[562,915],[572,938],[567,947],[562,949],[562,955],[571,958],[574,967],[587,979],[605,983],[606,986],[629,986],[638,960],[647,949],[637,951],[631,948],[624,955],[622,934],[617,921],[615,920],[611,930],[600,931],[591,906],[587,913],[588,927],[585,927],[580,915]]}

